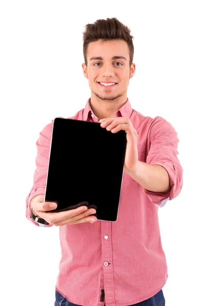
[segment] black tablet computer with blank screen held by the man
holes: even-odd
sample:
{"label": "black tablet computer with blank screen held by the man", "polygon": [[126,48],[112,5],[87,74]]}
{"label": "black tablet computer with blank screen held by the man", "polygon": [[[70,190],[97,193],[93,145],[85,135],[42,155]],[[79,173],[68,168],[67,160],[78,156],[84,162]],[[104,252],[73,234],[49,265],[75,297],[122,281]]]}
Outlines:
{"label": "black tablet computer with blank screen held by the man", "polygon": [[44,201],[58,207],[49,212],[88,202],[98,220],[117,221],[125,150],[125,131],[112,133],[99,122],[55,118]]}

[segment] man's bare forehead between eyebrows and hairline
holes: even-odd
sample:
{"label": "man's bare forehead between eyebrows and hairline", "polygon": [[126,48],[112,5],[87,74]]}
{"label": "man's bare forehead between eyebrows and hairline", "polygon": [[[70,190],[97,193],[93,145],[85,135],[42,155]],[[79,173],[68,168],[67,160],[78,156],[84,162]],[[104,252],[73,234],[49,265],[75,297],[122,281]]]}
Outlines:
{"label": "man's bare forehead between eyebrows and hairline", "polygon": [[104,60],[114,56],[123,56],[129,60],[129,48],[124,40],[97,40],[90,42],[87,48],[87,59],[92,57],[103,57]]}

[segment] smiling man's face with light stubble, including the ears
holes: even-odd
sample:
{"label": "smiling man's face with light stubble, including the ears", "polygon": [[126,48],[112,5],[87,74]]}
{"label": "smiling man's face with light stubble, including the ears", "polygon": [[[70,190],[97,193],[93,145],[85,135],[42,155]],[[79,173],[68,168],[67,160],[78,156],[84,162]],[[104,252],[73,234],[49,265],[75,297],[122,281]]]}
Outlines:
{"label": "smiling man's face with light stubble, including the ears", "polygon": [[[114,100],[126,95],[129,80],[135,73],[135,64],[130,69],[129,48],[123,40],[98,40],[89,43],[87,67],[85,64],[82,67],[92,94],[102,100]],[[103,82],[116,84],[101,85]]]}

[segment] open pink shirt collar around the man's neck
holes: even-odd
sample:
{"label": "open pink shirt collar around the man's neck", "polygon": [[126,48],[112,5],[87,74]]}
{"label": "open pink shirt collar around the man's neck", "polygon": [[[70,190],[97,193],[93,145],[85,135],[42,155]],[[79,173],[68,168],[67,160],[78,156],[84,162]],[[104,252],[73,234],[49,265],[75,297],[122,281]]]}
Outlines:
{"label": "open pink shirt collar around the man's neck", "polygon": [[[83,113],[84,121],[88,120],[89,114],[95,116],[90,106],[90,100],[91,98],[88,99],[86,106],[84,108],[84,113]],[[127,98],[125,104],[123,104],[121,108],[117,112],[115,112],[114,117],[130,118],[131,114],[132,114],[132,107],[129,98]]]}

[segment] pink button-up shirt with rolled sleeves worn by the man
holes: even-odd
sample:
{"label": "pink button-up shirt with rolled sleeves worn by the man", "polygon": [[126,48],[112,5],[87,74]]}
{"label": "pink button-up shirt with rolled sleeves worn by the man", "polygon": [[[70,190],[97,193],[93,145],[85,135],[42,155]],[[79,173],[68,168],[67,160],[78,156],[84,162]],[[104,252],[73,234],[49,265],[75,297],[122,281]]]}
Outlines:
{"label": "pink button-up shirt with rolled sleeves worn by the man", "polygon": [[[69,118],[97,122],[89,101]],[[177,133],[164,118],[153,119],[132,109],[128,98],[114,117],[130,118],[138,134],[139,161],[163,166],[169,174],[171,191],[150,192],[124,172],[116,222],[97,220],[93,224],[59,226],[62,257],[56,290],[78,305],[132,305],[158,293],[168,277],[158,207],[179,195],[183,186]],[[36,170],[26,199],[26,217],[37,226],[31,219],[30,201],[45,193],[52,125],[53,120],[36,142]],[[97,169],[90,167],[90,171]]]}

